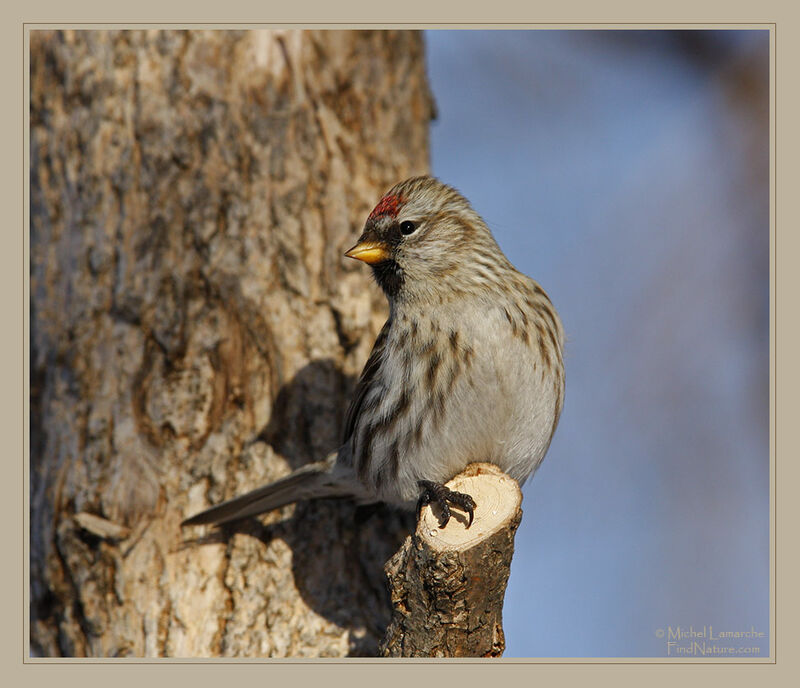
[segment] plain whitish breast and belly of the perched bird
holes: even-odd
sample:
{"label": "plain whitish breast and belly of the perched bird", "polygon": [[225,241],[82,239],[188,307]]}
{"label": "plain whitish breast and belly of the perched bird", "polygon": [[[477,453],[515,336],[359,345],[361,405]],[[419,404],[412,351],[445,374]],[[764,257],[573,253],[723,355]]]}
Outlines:
{"label": "plain whitish breast and belly of the perched bird", "polygon": [[[409,336],[402,322],[390,334],[397,341],[387,347],[381,368],[380,413],[397,408],[403,390],[417,390],[405,422],[391,435],[373,439],[371,462],[395,462],[396,477],[376,486],[385,501],[416,500],[419,480],[444,483],[476,461],[494,463],[523,483],[544,457],[553,432],[561,395],[558,378],[535,348],[512,335],[501,309],[462,311],[452,324],[444,320],[446,313],[431,315],[429,330],[418,323],[416,334],[423,343],[448,343],[435,366],[435,384],[430,352],[410,360],[394,345]],[[454,331],[456,346],[451,348]]]}

